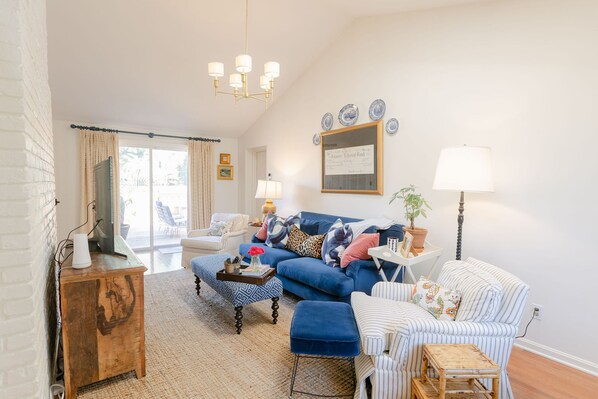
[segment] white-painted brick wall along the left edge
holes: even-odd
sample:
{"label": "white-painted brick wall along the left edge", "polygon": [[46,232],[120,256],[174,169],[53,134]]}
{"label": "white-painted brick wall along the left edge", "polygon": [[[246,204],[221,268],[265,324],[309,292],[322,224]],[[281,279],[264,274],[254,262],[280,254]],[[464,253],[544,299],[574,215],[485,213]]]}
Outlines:
{"label": "white-painted brick wall along the left edge", "polygon": [[47,398],[56,218],[45,1],[0,2],[0,60],[0,398]]}

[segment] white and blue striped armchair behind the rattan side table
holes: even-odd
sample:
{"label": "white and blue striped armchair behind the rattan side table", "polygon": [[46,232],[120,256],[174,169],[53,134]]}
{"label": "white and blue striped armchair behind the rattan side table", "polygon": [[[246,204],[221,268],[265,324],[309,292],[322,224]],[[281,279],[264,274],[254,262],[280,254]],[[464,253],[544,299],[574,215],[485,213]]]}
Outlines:
{"label": "white and blue striped armchair behind the rattan side table", "polygon": [[437,320],[411,303],[412,284],[380,282],[371,296],[353,292],[351,305],[361,335],[356,399],[366,398],[368,377],[373,399],[411,398],[411,379],[421,376],[423,345],[466,343],[477,345],[500,366],[500,398],[514,397],[507,364],[527,300],[527,284],[474,258],[445,263],[438,283],[462,293],[455,321]]}

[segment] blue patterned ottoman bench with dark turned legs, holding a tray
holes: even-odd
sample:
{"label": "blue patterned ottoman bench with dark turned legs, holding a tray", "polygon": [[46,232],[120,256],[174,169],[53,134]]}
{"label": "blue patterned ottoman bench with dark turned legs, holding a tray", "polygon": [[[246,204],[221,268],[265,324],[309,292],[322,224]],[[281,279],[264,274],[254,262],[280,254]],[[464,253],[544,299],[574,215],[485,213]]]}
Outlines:
{"label": "blue patterned ottoman bench with dark turned legs, holding a tray", "polygon": [[282,295],[282,282],[272,277],[264,285],[237,283],[235,281],[222,281],[216,279],[216,272],[224,268],[224,260],[230,258],[230,254],[208,255],[193,258],[191,270],[195,274],[195,290],[199,296],[200,283],[203,280],[206,284],[222,295],[224,299],[235,307],[235,326],[237,334],[241,334],[243,326],[243,306],[250,303],[272,299],[272,319],[276,324],[278,318],[278,298]]}

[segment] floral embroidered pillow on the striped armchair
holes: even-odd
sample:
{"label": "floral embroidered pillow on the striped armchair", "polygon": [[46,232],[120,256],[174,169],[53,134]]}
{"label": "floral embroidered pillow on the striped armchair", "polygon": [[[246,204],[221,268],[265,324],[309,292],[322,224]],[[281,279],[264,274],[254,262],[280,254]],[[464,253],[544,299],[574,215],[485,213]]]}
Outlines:
{"label": "floral embroidered pillow on the striped armchair", "polygon": [[461,294],[421,277],[413,286],[411,301],[426,309],[438,320],[454,321],[461,302]]}

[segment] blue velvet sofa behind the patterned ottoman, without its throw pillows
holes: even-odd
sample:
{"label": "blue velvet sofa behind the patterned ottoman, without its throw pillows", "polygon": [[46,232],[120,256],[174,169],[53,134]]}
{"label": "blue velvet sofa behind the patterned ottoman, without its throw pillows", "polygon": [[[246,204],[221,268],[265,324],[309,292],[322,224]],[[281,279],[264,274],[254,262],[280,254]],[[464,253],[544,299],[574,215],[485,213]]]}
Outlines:
{"label": "blue velvet sofa behind the patterned ottoman, without its throw pillows", "polygon": [[[300,228],[310,235],[326,234],[337,219],[344,223],[362,220],[303,211]],[[388,237],[402,240],[402,228],[402,225],[394,224],[387,230],[379,230],[380,245],[385,245]],[[366,233],[373,232],[376,232],[374,227],[366,230]],[[374,284],[382,279],[373,260],[356,260],[345,269],[330,267],[322,259],[300,257],[286,249],[270,248],[255,236],[251,243],[241,244],[239,248],[239,253],[246,261],[250,259],[247,251],[253,245],[264,248],[261,261],[276,268],[276,276],[282,281],[284,289],[304,299],[349,302],[351,292],[362,291],[369,295]],[[393,264],[382,264],[387,276],[392,275],[395,267]],[[402,281],[402,277],[401,273],[397,281]]]}

